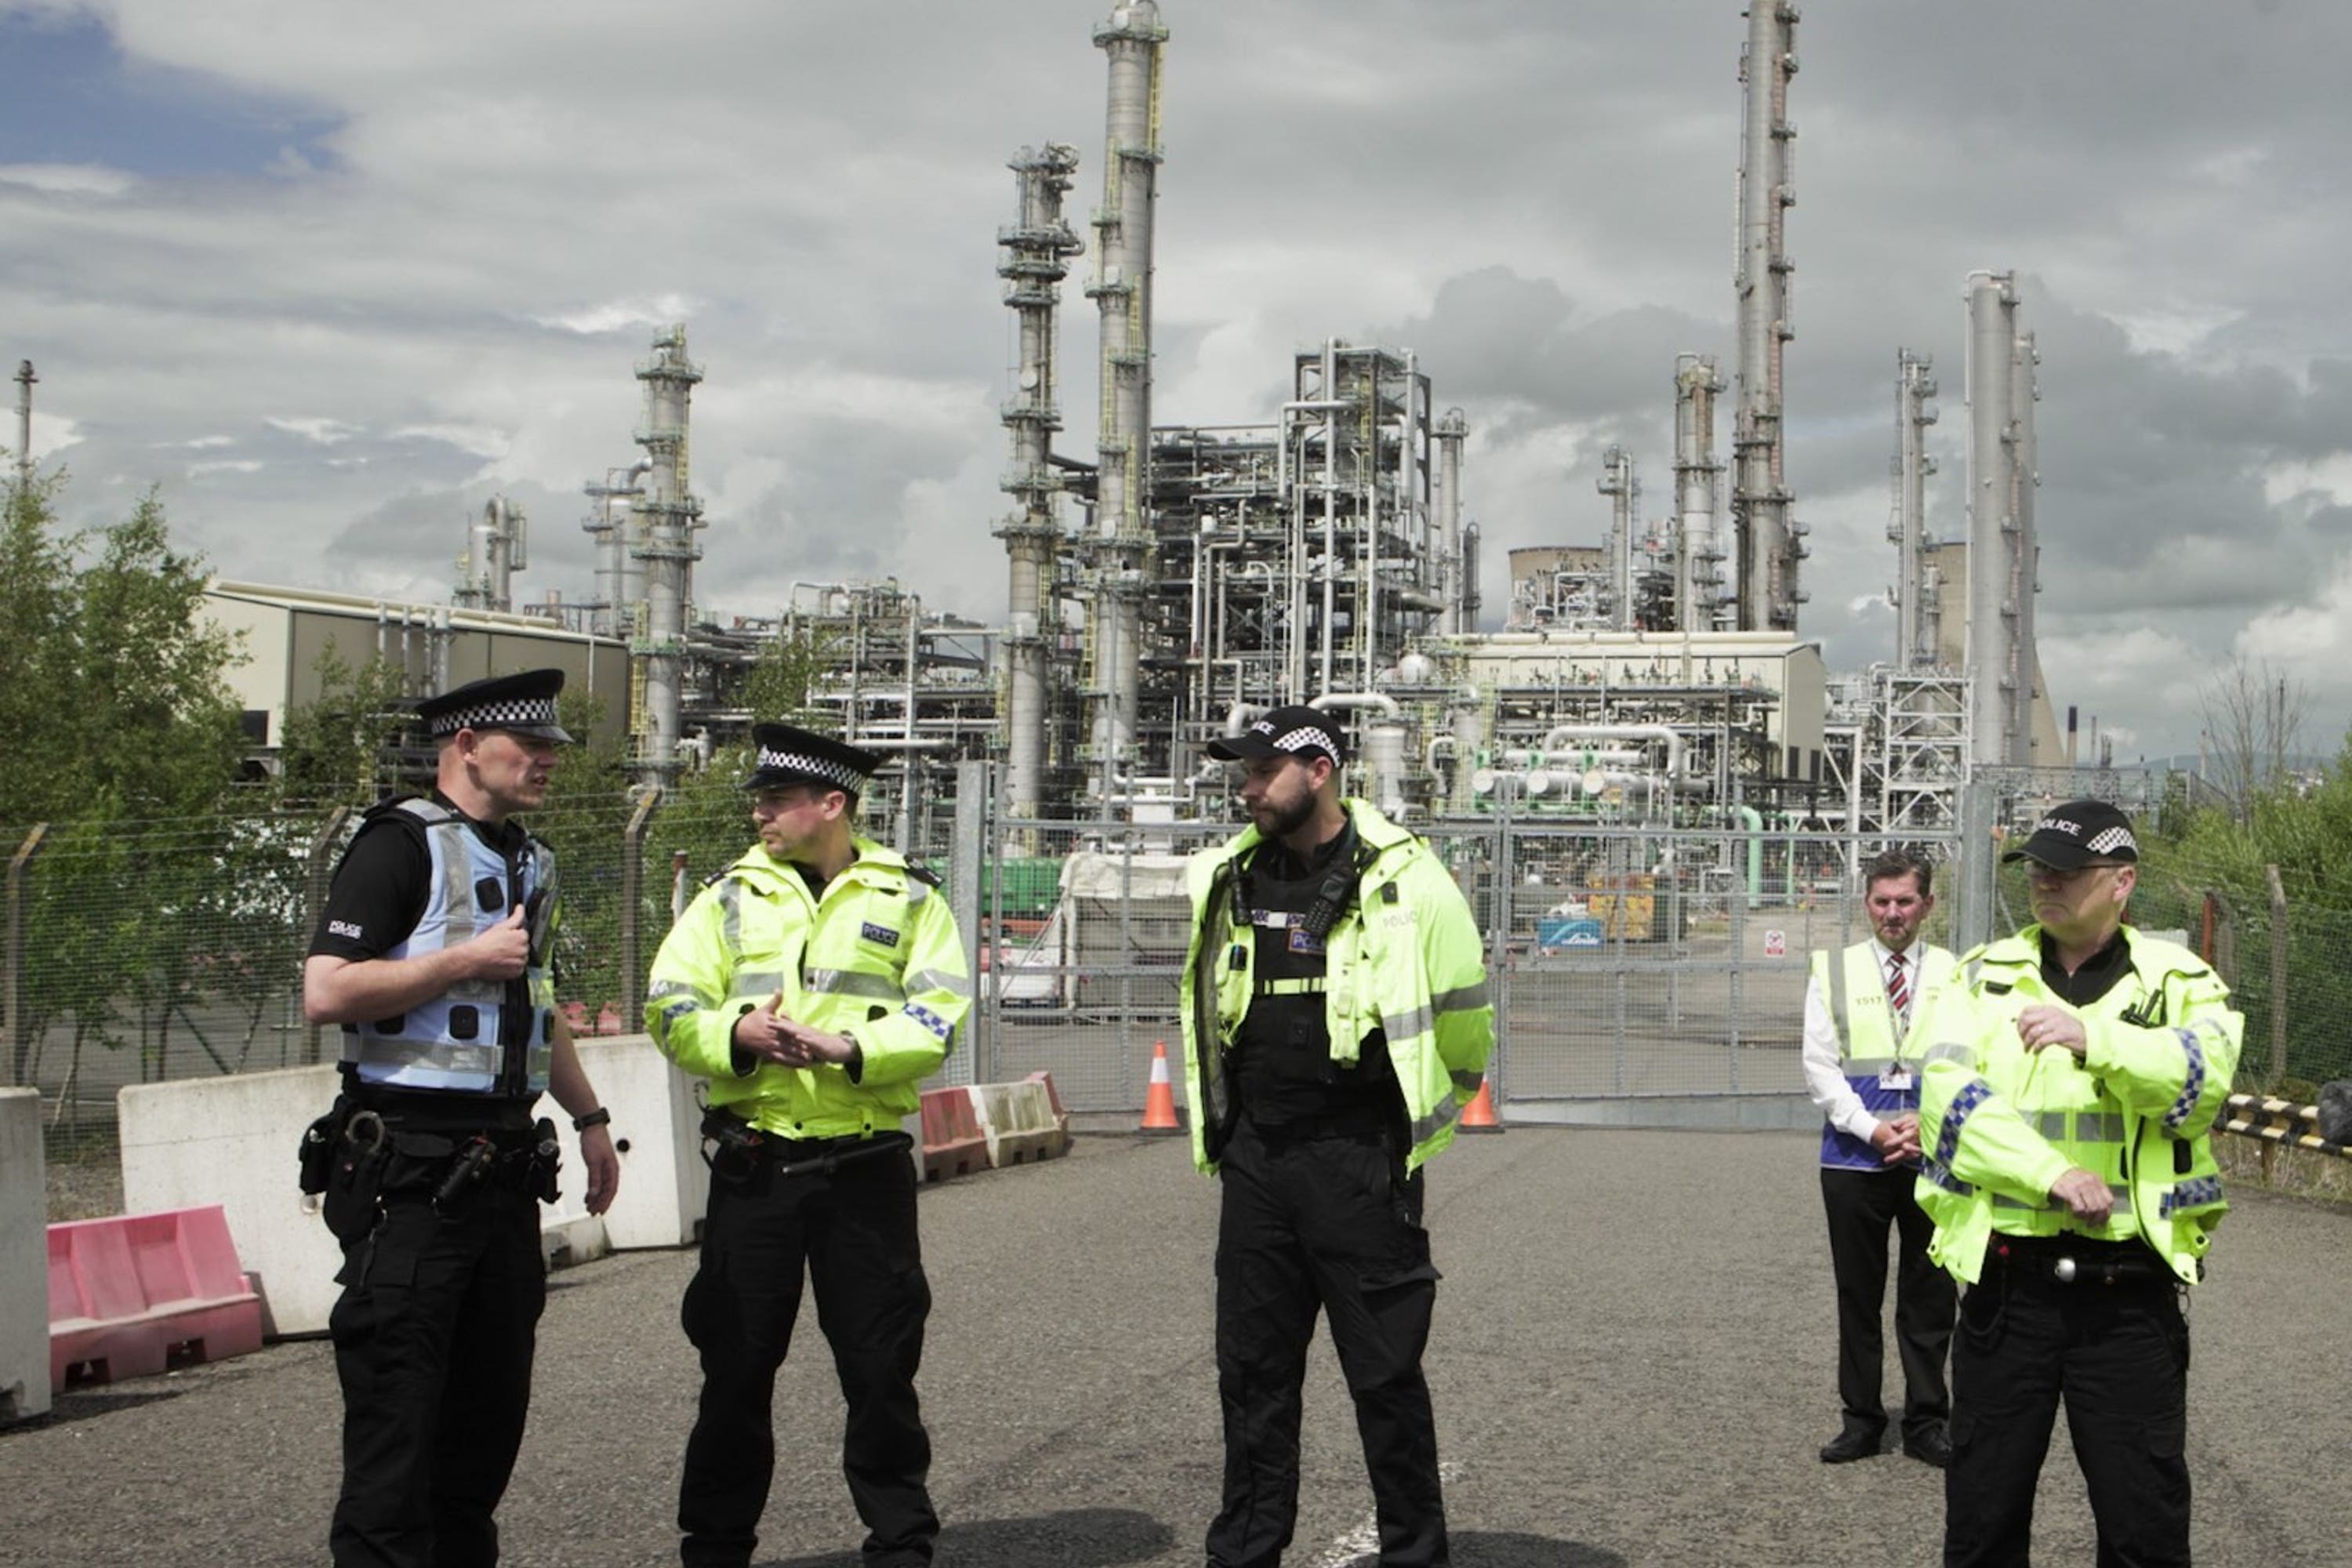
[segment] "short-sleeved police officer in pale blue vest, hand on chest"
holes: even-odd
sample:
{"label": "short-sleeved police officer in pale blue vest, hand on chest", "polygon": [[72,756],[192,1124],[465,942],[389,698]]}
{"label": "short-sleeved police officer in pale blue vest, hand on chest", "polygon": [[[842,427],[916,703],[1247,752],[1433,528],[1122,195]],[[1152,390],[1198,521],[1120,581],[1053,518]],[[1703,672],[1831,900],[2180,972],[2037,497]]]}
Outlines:
{"label": "short-sleeved police officer in pale blue vest, hand on chest", "polygon": [[[372,809],[303,964],[303,1013],[343,1025],[343,1093],[306,1143],[343,1244],[329,1316],[343,1385],[341,1566],[494,1563],[546,1305],[550,1088],[581,1131],[588,1213],[621,1180],[607,1112],[555,1011],[555,856],[517,811],[548,795],[562,670],[419,703],[433,792]],[[327,1173],[332,1166],[332,1173]]]}

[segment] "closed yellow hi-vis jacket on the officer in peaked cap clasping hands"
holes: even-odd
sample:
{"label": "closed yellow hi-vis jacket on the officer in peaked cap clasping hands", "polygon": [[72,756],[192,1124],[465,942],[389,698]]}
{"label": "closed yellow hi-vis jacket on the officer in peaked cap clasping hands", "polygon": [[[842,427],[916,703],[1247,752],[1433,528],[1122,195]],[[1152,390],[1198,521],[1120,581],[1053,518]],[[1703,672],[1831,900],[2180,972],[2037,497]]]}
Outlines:
{"label": "closed yellow hi-vis jacket on the officer in peaked cap clasping hands", "polygon": [[[710,1079],[710,1105],[783,1138],[891,1131],[922,1098],[971,1011],[955,914],[906,858],[854,839],[858,858],[811,896],[753,844],[663,938],[644,1027],[680,1067]],[[734,1025],[769,997],[797,1023],[851,1034],[863,1067],[736,1072]]]}

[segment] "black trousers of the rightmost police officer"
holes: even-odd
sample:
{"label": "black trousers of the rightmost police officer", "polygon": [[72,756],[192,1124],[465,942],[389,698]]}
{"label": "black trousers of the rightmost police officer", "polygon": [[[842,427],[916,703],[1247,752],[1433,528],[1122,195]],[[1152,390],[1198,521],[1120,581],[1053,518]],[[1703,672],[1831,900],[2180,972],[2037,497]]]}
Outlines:
{"label": "black trousers of the rightmost police officer", "polygon": [[2060,1401],[2098,1521],[2098,1566],[2185,1566],[2187,1368],[2178,1286],[2058,1284],[2046,1258],[1987,1255],[1952,1347],[1945,1568],[2032,1561],[2034,1486]]}

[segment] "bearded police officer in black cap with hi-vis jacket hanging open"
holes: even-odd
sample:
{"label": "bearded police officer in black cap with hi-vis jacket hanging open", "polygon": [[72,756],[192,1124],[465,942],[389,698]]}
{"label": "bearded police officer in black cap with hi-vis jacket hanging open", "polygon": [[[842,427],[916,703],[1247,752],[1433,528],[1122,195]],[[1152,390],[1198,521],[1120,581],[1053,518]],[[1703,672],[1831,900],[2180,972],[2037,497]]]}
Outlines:
{"label": "bearded police officer in black cap with hi-vis jacket hanging open", "polygon": [[1223,1178],[1216,1373],[1225,1415],[1211,1568],[1272,1568],[1298,1516],[1315,1314],[1355,1399],[1383,1568],[1446,1563],[1421,1352],[1437,1269],[1423,1164],[1484,1077],[1477,924],[1428,844],[1341,799],[1336,722],[1275,708],[1240,762],[1251,825],[1192,856],[1183,971],[1192,1159]]}

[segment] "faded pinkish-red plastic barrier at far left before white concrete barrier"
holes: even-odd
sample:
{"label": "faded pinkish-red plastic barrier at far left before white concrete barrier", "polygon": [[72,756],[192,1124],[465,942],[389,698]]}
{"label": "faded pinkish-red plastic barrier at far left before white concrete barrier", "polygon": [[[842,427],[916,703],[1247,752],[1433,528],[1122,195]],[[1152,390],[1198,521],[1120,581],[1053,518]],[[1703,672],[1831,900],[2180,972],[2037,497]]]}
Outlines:
{"label": "faded pinkish-red plastic barrier at far left before white concrete barrier", "polygon": [[219,1204],[49,1227],[52,1389],[252,1349],[261,1349],[261,1298]]}

